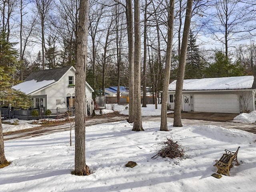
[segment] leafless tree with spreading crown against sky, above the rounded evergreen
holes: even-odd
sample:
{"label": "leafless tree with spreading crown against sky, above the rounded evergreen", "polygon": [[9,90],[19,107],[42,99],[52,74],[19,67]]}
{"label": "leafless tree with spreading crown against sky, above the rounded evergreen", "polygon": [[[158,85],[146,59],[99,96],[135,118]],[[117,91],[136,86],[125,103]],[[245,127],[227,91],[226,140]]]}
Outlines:
{"label": "leafless tree with spreading crown against sky, above the rounded evergreen", "polygon": [[[256,26],[252,24],[255,18],[255,7],[250,1],[237,0],[216,0],[213,25],[210,28],[213,39],[218,40],[224,45],[223,52],[228,58],[228,52],[232,42],[244,40],[255,32]],[[249,3],[249,4],[248,4]]]}

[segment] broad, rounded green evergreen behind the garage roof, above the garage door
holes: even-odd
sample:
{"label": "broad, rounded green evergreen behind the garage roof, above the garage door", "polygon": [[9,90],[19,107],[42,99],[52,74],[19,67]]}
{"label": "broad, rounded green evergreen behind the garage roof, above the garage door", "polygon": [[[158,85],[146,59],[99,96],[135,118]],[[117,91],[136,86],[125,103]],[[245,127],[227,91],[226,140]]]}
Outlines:
{"label": "broad, rounded green evergreen behind the garage roof, above the garage door", "polygon": [[238,62],[232,64],[230,58],[221,51],[215,52],[215,62],[206,68],[206,77],[242,76],[245,68]]}

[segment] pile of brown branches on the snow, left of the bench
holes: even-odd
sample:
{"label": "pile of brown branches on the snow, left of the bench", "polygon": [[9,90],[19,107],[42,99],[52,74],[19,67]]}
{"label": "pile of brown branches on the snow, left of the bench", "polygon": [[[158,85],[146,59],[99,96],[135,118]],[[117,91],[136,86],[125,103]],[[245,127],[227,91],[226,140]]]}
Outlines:
{"label": "pile of brown branches on the snow, left of the bench", "polygon": [[156,155],[152,157],[152,159],[156,159],[158,157],[162,158],[183,158],[185,156],[185,147],[178,144],[178,141],[174,142],[172,138],[167,138],[167,141],[156,144],[160,148],[157,150]]}

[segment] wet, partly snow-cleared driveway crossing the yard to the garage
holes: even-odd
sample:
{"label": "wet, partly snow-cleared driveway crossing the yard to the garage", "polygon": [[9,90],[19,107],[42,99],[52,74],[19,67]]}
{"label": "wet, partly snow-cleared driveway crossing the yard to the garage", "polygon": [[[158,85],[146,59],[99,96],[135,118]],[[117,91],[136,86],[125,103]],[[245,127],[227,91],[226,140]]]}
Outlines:
{"label": "wet, partly snow-cleared driveway crossing the yard to the garage", "polygon": [[[186,125],[214,125],[214,126],[221,126],[223,128],[232,128],[232,129],[240,129],[247,132],[251,132],[256,134],[256,124],[249,123],[249,122],[234,122],[233,118],[237,116],[237,114],[212,114],[212,113],[196,113],[196,112],[189,112],[189,113],[182,113],[182,124]],[[117,122],[126,120],[128,116],[116,116],[110,118],[100,118],[100,119],[90,119],[86,122],[86,126],[91,126],[100,123],[107,123],[107,122]],[[168,114],[167,121],[170,124],[173,124],[173,114]],[[160,116],[144,116],[142,117],[142,121],[161,121]],[[74,125],[72,126],[74,129]],[[13,132],[9,135],[4,135],[4,140],[17,140],[17,139],[24,139],[24,138],[31,138],[35,136],[42,136],[46,134],[51,134],[55,132],[67,131],[70,130],[70,124],[64,124],[59,126],[53,127],[46,127],[40,130],[30,130],[28,132]]]}

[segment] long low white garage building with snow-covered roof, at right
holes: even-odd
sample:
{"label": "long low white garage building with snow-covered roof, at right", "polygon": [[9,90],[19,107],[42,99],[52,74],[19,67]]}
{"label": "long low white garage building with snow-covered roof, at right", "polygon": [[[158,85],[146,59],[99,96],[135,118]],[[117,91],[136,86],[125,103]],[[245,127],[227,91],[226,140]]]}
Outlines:
{"label": "long low white garage building with snow-covered roof, at right", "polygon": [[[169,84],[169,103],[174,108],[176,80]],[[184,112],[241,113],[255,110],[254,76],[186,79],[182,88]]]}

